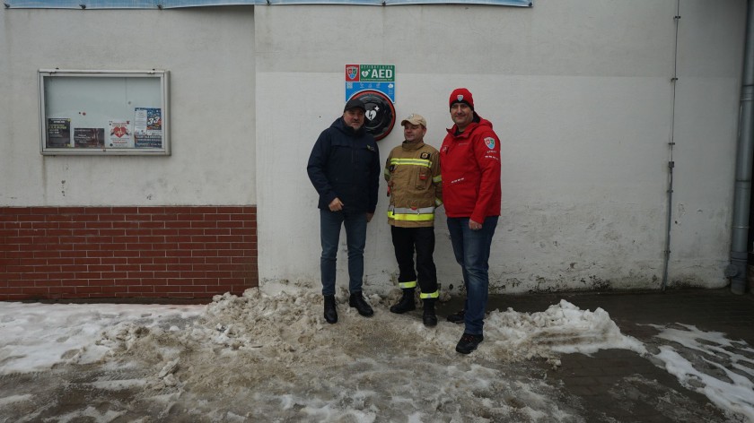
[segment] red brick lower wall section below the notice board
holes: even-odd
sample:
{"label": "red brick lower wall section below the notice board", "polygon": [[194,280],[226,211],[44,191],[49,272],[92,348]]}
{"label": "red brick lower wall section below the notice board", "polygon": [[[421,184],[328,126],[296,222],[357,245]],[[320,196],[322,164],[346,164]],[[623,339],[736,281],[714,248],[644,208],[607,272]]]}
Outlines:
{"label": "red brick lower wall section below the notice board", "polygon": [[256,207],[0,207],[0,300],[208,299],[256,286]]}

